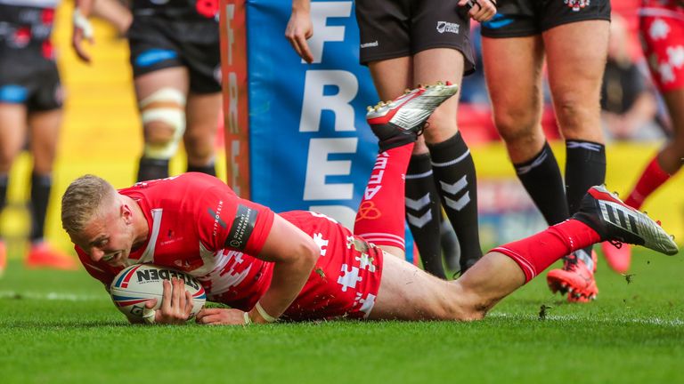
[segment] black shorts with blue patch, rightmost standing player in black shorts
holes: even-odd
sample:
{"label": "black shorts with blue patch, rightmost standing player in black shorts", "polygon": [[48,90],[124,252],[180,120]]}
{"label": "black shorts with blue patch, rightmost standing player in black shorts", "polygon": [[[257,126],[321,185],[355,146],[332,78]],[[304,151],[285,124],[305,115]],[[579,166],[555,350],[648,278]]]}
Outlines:
{"label": "black shorts with blue patch, rightmost standing player in black shorts", "polygon": [[584,8],[573,9],[563,0],[499,0],[496,15],[482,23],[482,36],[535,36],[572,22],[610,20],[610,0],[587,2]]}

